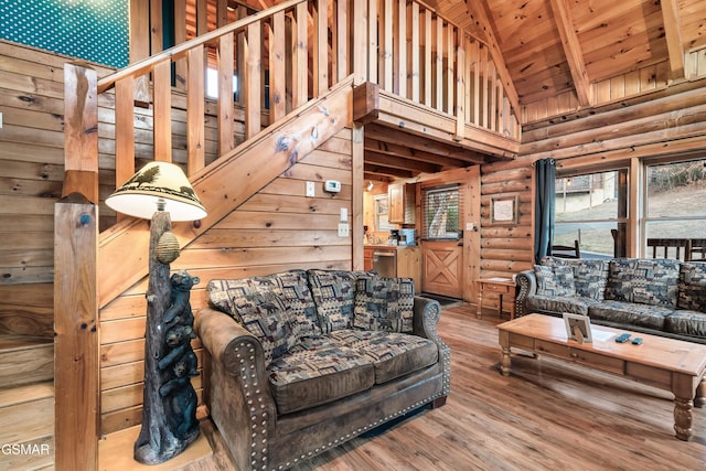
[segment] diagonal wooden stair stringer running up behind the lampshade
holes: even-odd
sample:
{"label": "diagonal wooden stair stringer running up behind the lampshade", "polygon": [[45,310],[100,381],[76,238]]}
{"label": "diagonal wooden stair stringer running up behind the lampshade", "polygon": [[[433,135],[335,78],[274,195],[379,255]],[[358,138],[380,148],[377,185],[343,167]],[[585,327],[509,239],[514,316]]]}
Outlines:
{"label": "diagonal wooden stair stringer running up behind the lampshade", "polygon": [[[180,247],[188,246],[353,120],[353,77],[341,81],[282,120],[191,176],[208,215],[173,223]],[[169,210],[169,208],[168,208]],[[126,220],[104,231],[98,243],[99,307],[148,275],[149,222]]]}

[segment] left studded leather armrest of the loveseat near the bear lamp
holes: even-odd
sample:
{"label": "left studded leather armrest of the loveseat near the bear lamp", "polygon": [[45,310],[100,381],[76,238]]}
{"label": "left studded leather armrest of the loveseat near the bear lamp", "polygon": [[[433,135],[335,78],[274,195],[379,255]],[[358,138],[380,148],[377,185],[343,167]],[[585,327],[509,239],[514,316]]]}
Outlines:
{"label": "left studded leather armrest of the loveseat near the bear lamp", "polygon": [[[211,355],[207,406],[238,462],[260,462],[275,435],[277,405],[270,394],[263,346],[229,315],[202,309],[194,327]],[[243,461],[245,460],[245,461]]]}

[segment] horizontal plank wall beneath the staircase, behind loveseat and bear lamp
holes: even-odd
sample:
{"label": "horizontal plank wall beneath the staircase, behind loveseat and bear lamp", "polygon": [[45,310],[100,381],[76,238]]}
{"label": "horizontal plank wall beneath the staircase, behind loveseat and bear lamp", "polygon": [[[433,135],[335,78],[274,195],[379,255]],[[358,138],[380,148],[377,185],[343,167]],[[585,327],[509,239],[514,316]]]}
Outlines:
{"label": "horizontal plank wall beneath the staircase, behind loveseat and bear lamp", "polygon": [[[201,278],[191,295],[196,315],[214,278],[292,268],[351,269],[351,238],[338,236],[341,208],[352,211],[351,162],[351,129],[344,129],[185,247],[172,269]],[[325,193],[324,180],[340,181],[342,191]],[[313,199],[304,196],[307,181],[315,182]],[[100,311],[104,433],[141,420],[146,291],[143,279]],[[197,340],[194,349],[201,364]],[[201,376],[193,384],[201,398]]]}

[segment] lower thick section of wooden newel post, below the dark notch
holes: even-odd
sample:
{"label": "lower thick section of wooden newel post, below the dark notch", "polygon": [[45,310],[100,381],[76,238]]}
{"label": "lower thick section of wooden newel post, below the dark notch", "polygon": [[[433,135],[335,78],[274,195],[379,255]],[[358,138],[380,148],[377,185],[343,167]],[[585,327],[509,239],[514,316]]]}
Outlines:
{"label": "lower thick section of wooden newel post, below the dark notch", "polygon": [[77,193],[56,203],[54,240],[54,468],[97,470],[97,206]]}

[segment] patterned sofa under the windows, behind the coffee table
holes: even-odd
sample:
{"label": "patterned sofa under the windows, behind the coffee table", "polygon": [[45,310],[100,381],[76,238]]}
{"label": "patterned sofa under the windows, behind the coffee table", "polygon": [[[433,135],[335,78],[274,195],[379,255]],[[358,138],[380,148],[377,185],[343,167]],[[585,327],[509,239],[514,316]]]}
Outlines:
{"label": "patterned sofa under the windows, behind the coffee table", "polygon": [[515,279],[517,315],[574,312],[597,324],[706,343],[706,263],[545,257]]}

